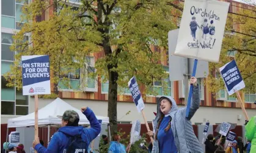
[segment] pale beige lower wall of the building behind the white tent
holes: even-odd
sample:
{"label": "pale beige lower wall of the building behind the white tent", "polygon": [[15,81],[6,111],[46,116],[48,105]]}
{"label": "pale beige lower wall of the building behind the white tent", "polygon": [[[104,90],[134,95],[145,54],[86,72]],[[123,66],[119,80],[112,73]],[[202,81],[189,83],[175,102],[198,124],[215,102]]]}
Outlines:
{"label": "pale beige lower wall of the building behind the white tent", "polygon": [[[92,101],[92,100],[77,100],[77,99],[63,99],[68,104],[80,109],[81,107],[90,107],[96,115],[108,116],[108,102],[106,101]],[[39,99],[38,107],[41,109],[45,105],[52,102],[53,99]],[[61,106],[60,106],[61,107]],[[182,106],[178,106],[182,107]],[[125,115],[131,111],[129,115]],[[34,112],[34,98],[29,98],[29,113]],[[145,115],[148,121],[155,118],[153,112],[156,112],[156,104],[145,104]],[[247,109],[249,117],[256,115],[255,109]],[[242,118],[238,120],[238,115]],[[16,116],[1,115],[1,124],[6,124],[9,118]],[[144,123],[142,115],[139,115],[133,102],[118,102],[117,103],[117,119],[118,121],[134,121],[140,119]],[[223,107],[200,107],[192,118],[192,124],[205,123],[207,120],[210,124],[222,123],[222,121],[229,121],[233,124],[243,125],[244,116],[241,109],[223,108]]]}

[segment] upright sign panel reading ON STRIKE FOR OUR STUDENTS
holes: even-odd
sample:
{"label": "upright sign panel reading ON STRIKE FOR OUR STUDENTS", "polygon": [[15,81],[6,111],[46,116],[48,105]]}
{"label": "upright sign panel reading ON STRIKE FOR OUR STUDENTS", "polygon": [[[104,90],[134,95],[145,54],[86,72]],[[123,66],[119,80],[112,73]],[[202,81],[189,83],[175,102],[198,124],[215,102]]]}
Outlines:
{"label": "upright sign panel reading ON STRIKE FOR OUR STUDENTS", "polygon": [[22,56],[23,95],[51,94],[49,56]]}

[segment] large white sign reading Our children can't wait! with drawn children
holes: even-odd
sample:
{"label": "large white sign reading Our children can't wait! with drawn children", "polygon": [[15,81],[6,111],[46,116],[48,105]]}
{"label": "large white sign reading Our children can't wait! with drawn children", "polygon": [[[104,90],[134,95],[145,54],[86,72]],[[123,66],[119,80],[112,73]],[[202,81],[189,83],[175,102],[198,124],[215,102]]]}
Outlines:
{"label": "large white sign reading Our children can't wait! with drawn children", "polygon": [[186,0],[174,54],[219,62],[229,2]]}

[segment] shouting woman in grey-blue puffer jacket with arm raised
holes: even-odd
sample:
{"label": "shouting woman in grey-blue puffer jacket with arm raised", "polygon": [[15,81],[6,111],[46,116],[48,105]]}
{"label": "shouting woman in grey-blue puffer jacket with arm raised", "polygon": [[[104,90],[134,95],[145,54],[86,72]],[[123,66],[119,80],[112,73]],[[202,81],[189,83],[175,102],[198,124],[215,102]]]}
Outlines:
{"label": "shouting woman in grey-blue puffer jacket with arm raised", "polygon": [[152,153],[203,153],[190,121],[200,106],[196,77],[191,77],[189,84],[192,84],[194,89],[188,117],[186,107],[178,109],[174,98],[159,98],[156,118],[153,120],[155,137]]}

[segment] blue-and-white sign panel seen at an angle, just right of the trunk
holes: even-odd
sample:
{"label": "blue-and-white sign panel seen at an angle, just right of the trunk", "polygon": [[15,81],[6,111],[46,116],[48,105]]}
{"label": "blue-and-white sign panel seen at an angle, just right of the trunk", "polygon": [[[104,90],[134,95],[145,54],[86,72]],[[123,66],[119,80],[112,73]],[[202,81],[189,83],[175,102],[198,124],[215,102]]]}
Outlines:
{"label": "blue-and-white sign panel seen at an angle, just right of the trunk", "polygon": [[128,86],[131,91],[131,96],[133,96],[133,101],[137,107],[137,111],[140,113],[141,110],[145,108],[142,96],[141,96],[141,91],[139,91],[139,86],[137,84],[136,78],[132,77],[130,81],[128,82]]}

